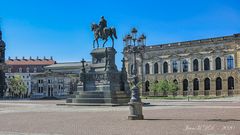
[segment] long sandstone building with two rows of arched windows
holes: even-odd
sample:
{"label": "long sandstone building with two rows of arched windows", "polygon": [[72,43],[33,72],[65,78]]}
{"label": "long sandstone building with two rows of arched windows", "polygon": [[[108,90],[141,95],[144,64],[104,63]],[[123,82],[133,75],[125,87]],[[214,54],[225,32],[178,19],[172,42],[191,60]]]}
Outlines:
{"label": "long sandstone building with two rows of arched windows", "polygon": [[[129,76],[131,47],[126,45],[123,52]],[[137,69],[142,94],[148,94],[149,85],[162,79],[177,83],[178,95],[240,94],[240,34],[141,48]]]}

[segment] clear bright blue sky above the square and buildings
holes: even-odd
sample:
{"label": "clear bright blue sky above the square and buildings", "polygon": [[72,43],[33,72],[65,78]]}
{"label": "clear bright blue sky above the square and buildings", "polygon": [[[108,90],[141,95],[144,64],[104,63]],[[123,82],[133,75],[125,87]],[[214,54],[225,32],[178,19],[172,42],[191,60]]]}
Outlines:
{"label": "clear bright blue sky above the square and buildings", "polygon": [[148,45],[240,33],[239,0],[0,0],[6,58],[91,60],[90,24],[102,15],[117,29],[119,69],[122,38],[132,27]]}

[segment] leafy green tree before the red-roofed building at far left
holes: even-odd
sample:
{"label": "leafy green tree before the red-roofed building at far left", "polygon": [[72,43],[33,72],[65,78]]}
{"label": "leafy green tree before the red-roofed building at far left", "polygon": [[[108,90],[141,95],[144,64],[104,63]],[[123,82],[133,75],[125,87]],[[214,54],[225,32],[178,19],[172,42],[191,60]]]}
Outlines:
{"label": "leafy green tree before the red-roofed building at far left", "polygon": [[27,86],[23,82],[21,76],[16,75],[8,81],[8,87],[11,89],[12,96],[23,97],[27,92]]}

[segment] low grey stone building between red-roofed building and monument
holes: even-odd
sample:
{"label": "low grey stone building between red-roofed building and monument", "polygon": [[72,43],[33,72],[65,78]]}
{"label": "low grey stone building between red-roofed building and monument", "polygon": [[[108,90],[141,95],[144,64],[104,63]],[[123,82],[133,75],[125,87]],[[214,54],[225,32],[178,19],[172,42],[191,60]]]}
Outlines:
{"label": "low grey stone building between red-roofed building and monument", "polygon": [[[85,63],[86,68],[89,65]],[[81,62],[55,63],[44,69],[44,73],[32,76],[31,98],[67,98],[77,91]]]}

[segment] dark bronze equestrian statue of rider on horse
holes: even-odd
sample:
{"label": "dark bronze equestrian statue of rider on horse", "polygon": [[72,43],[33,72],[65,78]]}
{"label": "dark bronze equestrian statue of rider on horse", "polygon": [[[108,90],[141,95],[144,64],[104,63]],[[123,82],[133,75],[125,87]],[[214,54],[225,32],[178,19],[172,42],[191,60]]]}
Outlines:
{"label": "dark bronze equestrian statue of rider on horse", "polygon": [[107,21],[104,16],[101,17],[99,24],[92,23],[91,29],[94,33],[93,48],[95,48],[95,42],[97,42],[97,48],[99,48],[99,38],[104,41],[102,45],[104,47],[108,41],[108,37],[111,38],[112,47],[114,48],[114,38],[117,39],[116,29],[114,27],[107,27]]}

